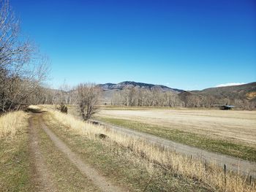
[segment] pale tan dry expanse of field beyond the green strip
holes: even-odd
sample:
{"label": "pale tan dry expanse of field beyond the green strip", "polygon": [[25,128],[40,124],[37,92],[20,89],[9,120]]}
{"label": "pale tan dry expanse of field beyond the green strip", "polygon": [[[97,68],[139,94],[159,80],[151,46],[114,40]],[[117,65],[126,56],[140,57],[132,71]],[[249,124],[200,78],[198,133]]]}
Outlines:
{"label": "pale tan dry expanse of field beyond the green strip", "polygon": [[256,144],[256,111],[226,110],[101,110],[99,117],[136,120],[179,129],[206,137],[232,140],[246,145]]}

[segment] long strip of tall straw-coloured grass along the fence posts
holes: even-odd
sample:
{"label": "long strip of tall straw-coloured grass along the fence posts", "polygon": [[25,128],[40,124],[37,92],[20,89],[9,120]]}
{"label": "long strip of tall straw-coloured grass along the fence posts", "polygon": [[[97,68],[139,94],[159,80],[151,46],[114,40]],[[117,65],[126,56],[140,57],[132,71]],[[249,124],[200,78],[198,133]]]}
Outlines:
{"label": "long strip of tall straw-coloured grass along the fence posts", "polygon": [[206,183],[214,191],[256,191],[255,183],[249,185],[245,177],[233,172],[224,174],[223,170],[214,164],[208,164],[206,167],[203,161],[197,158],[189,158],[174,153],[172,150],[163,149],[146,142],[146,140],[138,139],[127,134],[120,134],[103,126],[85,123],[72,115],[66,115],[53,110],[49,110],[49,112],[53,118],[59,120],[64,126],[67,126],[77,134],[89,139],[98,139],[97,135],[105,134],[111,142],[115,142],[122,147],[127,147],[139,157],[146,158],[148,160],[148,167],[151,167],[151,170],[148,169],[149,172],[152,171],[152,167],[161,166],[167,172]]}

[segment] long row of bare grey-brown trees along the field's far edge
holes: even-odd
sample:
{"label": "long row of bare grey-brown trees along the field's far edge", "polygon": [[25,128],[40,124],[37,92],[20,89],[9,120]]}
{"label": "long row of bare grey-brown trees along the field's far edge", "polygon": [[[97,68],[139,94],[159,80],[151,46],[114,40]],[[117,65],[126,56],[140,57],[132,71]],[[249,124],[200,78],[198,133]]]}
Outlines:
{"label": "long row of bare grey-brown trees along the field's far edge", "polygon": [[111,104],[124,106],[149,107],[219,107],[224,104],[233,104],[239,109],[253,110],[255,101],[236,99],[229,96],[211,96],[184,91],[162,91],[161,88],[141,89],[127,88],[113,93]]}

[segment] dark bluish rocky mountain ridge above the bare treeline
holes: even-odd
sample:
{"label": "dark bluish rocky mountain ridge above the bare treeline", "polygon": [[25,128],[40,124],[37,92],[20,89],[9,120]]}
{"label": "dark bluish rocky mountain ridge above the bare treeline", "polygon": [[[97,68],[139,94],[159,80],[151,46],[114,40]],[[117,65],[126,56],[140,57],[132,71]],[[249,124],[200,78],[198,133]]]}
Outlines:
{"label": "dark bluish rocky mountain ridge above the bare treeline", "polygon": [[143,89],[149,89],[149,90],[151,90],[152,88],[160,88],[162,91],[173,91],[177,93],[181,93],[184,91],[178,88],[169,88],[165,85],[154,85],[150,83],[134,82],[134,81],[124,81],[124,82],[119,82],[117,84],[108,82],[105,84],[99,84],[99,87],[101,87],[103,91],[123,90],[125,88],[143,88]]}

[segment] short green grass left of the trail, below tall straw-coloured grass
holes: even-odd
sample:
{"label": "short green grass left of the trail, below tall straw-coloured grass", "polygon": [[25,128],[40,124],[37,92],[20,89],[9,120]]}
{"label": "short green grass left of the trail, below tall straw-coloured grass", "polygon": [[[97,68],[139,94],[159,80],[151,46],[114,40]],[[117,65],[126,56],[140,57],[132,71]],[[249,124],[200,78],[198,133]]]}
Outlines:
{"label": "short green grass left of the trail, below tall straw-coloured grass", "polygon": [[0,139],[0,191],[34,191],[26,128],[13,139]]}

